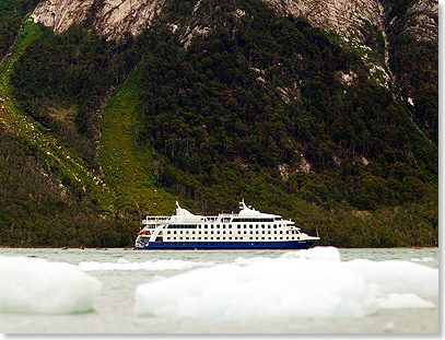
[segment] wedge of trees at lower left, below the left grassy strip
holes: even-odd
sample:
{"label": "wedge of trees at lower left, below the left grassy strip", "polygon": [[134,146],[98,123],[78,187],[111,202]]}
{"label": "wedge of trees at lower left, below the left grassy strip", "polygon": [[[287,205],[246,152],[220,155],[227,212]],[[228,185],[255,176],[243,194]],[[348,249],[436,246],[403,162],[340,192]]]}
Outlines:
{"label": "wedge of trees at lower left, below the left grassy strip", "polygon": [[104,219],[82,187],[60,180],[58,164],[0,125],[0,245],[128,246],[138,227]]}

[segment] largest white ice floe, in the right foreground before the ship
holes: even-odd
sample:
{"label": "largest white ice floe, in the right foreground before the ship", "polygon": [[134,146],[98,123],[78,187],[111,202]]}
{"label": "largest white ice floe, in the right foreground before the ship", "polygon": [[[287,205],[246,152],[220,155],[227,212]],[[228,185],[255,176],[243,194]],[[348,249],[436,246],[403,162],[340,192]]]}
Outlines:
{"label": "largest white ice floe, in the right foreground before the ship", "polygon": [[[295,254],[294,254],[295,253]],[[138,316],[204,320],[355,318],[379,308],[430,308],[438,270],[407,261],[340,261],[316,247],[281,258],[237,258],[195,269],[134,292]]]}

